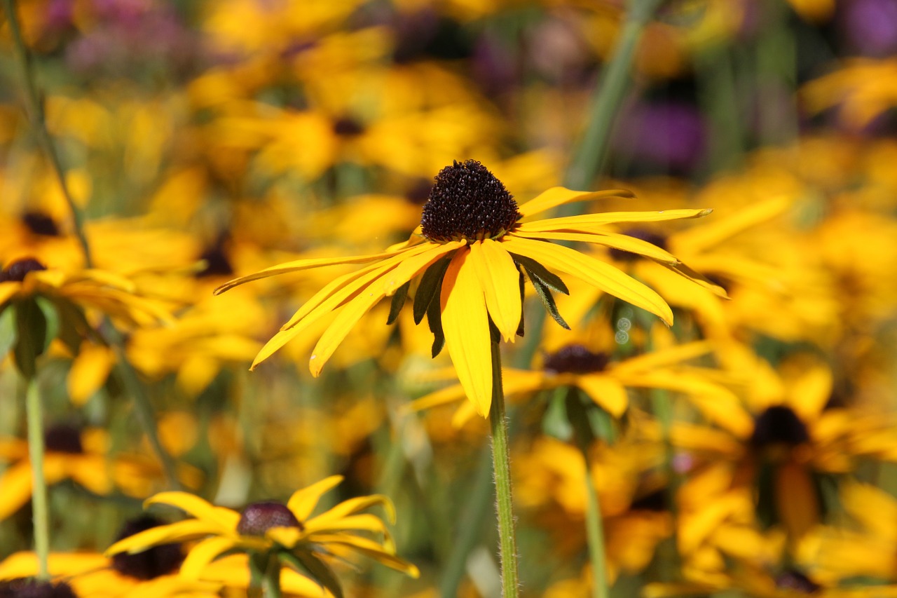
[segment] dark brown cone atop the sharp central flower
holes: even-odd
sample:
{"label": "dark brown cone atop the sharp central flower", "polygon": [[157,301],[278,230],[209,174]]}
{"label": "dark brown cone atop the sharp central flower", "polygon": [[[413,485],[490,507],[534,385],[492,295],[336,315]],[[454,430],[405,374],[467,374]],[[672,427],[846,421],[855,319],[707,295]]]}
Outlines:
{"label": "dark brown cone atop the sharp central flower", "polygon": [[455,162],[436,175],[423,206],[423,236],[432,242],[494,239],[520,217],[517,202],[483,164]]}

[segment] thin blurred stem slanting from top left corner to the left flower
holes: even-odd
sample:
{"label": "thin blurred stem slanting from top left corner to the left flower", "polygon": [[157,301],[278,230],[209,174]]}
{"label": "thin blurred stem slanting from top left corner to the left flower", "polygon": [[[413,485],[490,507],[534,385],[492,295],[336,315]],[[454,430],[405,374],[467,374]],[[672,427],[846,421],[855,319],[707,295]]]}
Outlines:
{"label": "thin blurred stem slanting from top left corner to the left flower", "polygon": [[13,35],[15,56],[19,63],[19,69],[22,71],[22,82],[24,84],[25,92],[25,113],[28,115],[31,128],[34,129],[34,132],[38,137],[40,147],[43,149],[44,154],[47,154],[50,166],[59,183],[59,188],[62,189],[65,203],[68,204],[68,208],[72,212],[74,234],[78,238],[78,242],[81,243],[81,249],[84,253],[84,265],[86,268],[91,268],[91,248],[87,242],[87,237],[84,234],[83,215],[81,214],[81,209],[74,203],[74,198],[68,189],[68,185],[65,184],[65,172],[62,169],[62,163],[59,160],[59,154],[56,151],[56,147],[53,145],[53,139],[50,137],[47,129],[47,119],[44,114],[43,103],[40,100],[34,68],[31,64],[31,57],[28,48],[25,46],[25,41],[22,40],[22,28],[19,26],[19,16],[15,11],[15,1],[3,0],[3,5],[6,13],[6,20],[9,22],[9,31]]}

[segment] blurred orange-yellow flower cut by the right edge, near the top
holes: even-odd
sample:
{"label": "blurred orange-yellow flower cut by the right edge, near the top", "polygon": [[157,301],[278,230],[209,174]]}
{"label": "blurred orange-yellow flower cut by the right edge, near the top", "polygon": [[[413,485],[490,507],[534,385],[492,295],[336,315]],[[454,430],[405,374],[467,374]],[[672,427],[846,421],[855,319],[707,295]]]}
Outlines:
{"label": "blurred orange-yellow flower cut by the right edge, near the top", "polygon": [[800,98],[811,114],[840,106],[850,128],[864,128],[897,106],[897,58],[850,58],[833,73],[805,84]]}

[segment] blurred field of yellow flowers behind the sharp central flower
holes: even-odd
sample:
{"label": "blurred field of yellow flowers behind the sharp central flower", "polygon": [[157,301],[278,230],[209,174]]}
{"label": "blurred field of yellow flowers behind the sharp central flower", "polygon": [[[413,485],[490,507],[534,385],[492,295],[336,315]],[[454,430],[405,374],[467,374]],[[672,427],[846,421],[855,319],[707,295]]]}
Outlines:
{"label": "blurred field of yellow flowers behind the sharp central flower", "polygon": [[[412,306],[377,303],[318,377],[332,315],[249,371],[353,256],[407,241],[466,160],[520,206],[556,186],[634,194],[545,218],[712,208],[608,224],[651,259],[545,237],[674,320],[576,277],[556,304],[527,286],[524,334],[501,343],[520,595],[897,595],[897,0],[2,14],[0,596],[39,571],[36,461],[49,573],[78,596],[252,594],[233,551],[251,541],[188,583],[198,537],[152,575],[103,556],[169,491],[370,517],[352,520],[367,551],[303,529],[346,596],[501,595],[490,425]],[[213,295],[318,258],[345,263]],[[152,502],[205,521],[177,496]],[[287,595],[330,595],[288,565]]]}

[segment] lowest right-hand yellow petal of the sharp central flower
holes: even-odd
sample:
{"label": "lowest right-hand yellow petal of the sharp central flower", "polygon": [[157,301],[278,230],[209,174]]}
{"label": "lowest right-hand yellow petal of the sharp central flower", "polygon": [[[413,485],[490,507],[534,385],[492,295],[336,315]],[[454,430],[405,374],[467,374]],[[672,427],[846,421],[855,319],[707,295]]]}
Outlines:
{"label": "lowest right-hand yellow petal of the sharp central flower", "polygon": [[511,253],[519,253],[536,259],[548,268],[567,272],[597,286],[605,293],[648,310],[667,325],[673,323],[673,311],[660,295],[610,264],[552,242],[521,239],[510,234],[502,237],[502,241],[505,249]]}

